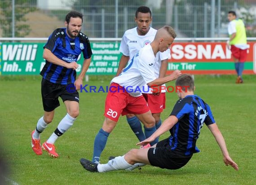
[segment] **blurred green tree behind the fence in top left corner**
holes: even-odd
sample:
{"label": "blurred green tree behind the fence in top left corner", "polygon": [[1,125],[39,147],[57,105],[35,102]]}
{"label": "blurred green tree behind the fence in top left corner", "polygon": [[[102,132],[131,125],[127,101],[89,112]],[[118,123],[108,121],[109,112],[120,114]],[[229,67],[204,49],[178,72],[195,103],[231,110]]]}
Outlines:
{"label": "blurred green tree behind the fence in top left corner", "polygon": [[[36,10],[36,0],[15,0],[15,37],[24,37],[31,31],[30,26],[25,24],[27,18],[26,13],[33,12]],[[0,1],[0,25],[3,30],[2,37],[12,37],[12,0],[1,0]]]}

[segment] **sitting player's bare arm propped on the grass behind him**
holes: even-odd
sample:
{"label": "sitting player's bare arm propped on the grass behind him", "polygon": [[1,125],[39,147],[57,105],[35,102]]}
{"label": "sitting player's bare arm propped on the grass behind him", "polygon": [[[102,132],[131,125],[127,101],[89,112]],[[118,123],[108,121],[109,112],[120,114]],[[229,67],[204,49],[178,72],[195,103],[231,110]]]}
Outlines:
{"label": "sitting player's bare arm propped on the grass behind him", "polygon": [[221,131],[219,130],[217,124],[213,123],[213,124],[207,125],[207,127],[210,129],[210,131],[212,132],[212,135],[215,137],[218,145],[221,148],[221,152],[223,154],[223,161],[225,165],[226,166],[230,165],[235,170],[238,170],[238,165],[230,158],[230,154],[227,150],[224,137],[222,136]]}

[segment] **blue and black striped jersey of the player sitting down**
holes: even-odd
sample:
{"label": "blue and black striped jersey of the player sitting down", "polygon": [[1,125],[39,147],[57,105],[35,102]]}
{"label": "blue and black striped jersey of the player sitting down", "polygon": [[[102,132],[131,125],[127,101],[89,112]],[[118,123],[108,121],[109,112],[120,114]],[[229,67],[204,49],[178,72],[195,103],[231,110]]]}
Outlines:
{"label": "blue and black striped jersey of the player sitting down", "polygon": [[178,100],[172,113],[178,122],[170,129],[171,150],[177,157],[190,156],[200,150],[196,147],[203,123],[215,123],[210,107],[197,95],[189,95]]}

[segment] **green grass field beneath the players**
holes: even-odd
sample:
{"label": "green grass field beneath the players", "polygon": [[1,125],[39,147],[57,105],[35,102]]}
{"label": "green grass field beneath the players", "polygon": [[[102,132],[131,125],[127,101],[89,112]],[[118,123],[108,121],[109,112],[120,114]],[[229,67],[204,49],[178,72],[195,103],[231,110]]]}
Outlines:
{"label": "green grass field beneath the players", "polygon": [[[84,84],[109,85],[110,76],[90,77]],[[0,78],[0,140],[9,162],[9,179],[19,185],[91,185],[91,184],[214,184],[252,185],[256,170],[256,76],[244,76],[244,84],[234,84],[235,76],[195,76],[195,94],[201,96],[212,109],[230,156],[239,171],[226,167],[221,150],[211,132],[204,125],[197,146],[200,153],[179,170],[171,171],[146,166],[132,172],[115,171],[91,173],[80,165],[80,158],[91,159],[93,141],[102,126],[106,93],[80,93],[80,115],[73,127],[55,143],[58,159],[46,152],[37,156],[31,149],[31,132],[43,115],[40,77],[8,76]],[[174,85],[173,82],[168,85]],[[166,119],[177,101],[176,93],[167,93]],[[41,134],[41,143],[49,138],[66,115],[64,104],[55,110],[53,123]],[[165,133],[160,139],[168,137]],[[119,119],[110,134],[101,163],[110,155],[123,155],[137,138],[125,117]],[[9,184],[12,184],[9,182]]]}

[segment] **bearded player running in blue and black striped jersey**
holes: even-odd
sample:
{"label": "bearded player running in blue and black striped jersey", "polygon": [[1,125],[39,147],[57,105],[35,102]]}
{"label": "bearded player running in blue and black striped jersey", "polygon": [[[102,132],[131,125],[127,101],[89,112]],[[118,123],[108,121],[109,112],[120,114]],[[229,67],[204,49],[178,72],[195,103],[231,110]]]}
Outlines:
{"label": "bearded player running in blue and black striped jersey", "polygon": [[[58,28],[50,35],[44,45],[43,58],[45,65],[40,75],[43,76],[41,93],[44,107],[42,116],[31,133],[32,149],[37,155],[42,154],[42,148],[52,157],[57,158],[55,141],[62,136],[74,123],[79,115],[79,94],[83,77],[91,63],[92,50],[88,37],[81,33],[83,15],[71,11],[66,15],[66,28]],[[76,63],[79,55],[83,53],[84,63],[82,70],[76,79]],[[40,145],[40,133],[52,122],[54,110],[60,106],[58,97],[62,98],[67,113],[58,124],[56,130],[49,139]]]}

